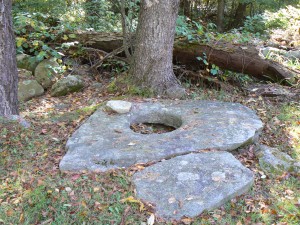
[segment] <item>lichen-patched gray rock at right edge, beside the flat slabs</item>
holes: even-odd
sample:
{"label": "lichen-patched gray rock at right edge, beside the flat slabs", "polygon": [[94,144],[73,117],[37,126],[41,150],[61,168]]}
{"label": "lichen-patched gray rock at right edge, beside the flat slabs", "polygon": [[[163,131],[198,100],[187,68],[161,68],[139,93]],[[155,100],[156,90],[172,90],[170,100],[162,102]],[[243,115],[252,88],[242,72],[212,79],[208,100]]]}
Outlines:
{"label": "lichen-patched gray rock at right edge, beside the flat slabs", "polygon": [[270,174],[282,174],[287,171],[300,171],[299,162],[277,148],[261,145],[257,152],[260,167]]}

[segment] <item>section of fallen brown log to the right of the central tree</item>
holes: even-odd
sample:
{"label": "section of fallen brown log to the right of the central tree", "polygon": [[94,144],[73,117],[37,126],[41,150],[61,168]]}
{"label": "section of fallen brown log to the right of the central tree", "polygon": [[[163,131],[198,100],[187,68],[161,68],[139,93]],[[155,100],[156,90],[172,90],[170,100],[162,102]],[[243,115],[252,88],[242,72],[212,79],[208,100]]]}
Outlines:
{"label": "section of fallen brown log to the right of the central tree", "polygon": [[230,43],[218,45],[201,45],[178,42],[174,46],[174,60],[188,65],[192,69],[203,66],[197,57],[207,56],[209,64],[215,64],[222,69],[244,73],[261,80],[295,83],[296,74],[277,62],[263,59],[253,46],[235,46]]}

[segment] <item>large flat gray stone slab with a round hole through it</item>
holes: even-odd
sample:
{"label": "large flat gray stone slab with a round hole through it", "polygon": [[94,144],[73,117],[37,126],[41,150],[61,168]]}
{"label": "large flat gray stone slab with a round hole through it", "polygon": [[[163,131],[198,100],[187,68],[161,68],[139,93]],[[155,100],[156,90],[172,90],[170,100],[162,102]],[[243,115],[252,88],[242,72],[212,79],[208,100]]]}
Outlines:
{"label": "large flat gray stone slab with a round hole through it", "polygon": [[[148,135],[130,129],[144,122],[177,129]],[[255,113],[238,103],[133,103],[127,114],[111,114],[103,106],[69,138],[60,169],[106,171],[203,149],[230,151],[255,141],[262,127]]]}

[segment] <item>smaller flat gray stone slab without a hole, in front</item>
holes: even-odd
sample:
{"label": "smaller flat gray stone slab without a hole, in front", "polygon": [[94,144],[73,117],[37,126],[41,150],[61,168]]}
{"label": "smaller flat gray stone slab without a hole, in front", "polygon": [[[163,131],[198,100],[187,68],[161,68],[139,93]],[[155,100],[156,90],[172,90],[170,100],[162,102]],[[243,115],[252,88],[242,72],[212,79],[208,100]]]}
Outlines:
{"label": "smaller flat gray stone slab without a hole, in front", "polygon": [[195,217],[253,184],[252,172],[228,152],[192,153],[165,160],[133,176],[137,197],[164,219]]}

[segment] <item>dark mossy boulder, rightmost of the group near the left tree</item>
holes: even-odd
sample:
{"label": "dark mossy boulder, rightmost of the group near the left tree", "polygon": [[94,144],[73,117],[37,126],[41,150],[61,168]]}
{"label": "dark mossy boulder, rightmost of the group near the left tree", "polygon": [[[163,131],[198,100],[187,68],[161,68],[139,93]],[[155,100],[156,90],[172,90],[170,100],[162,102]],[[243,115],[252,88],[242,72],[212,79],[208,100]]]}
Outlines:
{"label": "dark mossy boulder, rightmost of the group near the left tree", "polygon": [[79,76],[69,75],[58,80],[51,88],[51,96],[64,96],[83,88],[83,81]]}

